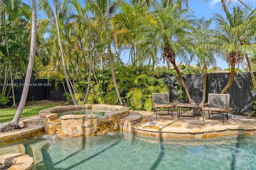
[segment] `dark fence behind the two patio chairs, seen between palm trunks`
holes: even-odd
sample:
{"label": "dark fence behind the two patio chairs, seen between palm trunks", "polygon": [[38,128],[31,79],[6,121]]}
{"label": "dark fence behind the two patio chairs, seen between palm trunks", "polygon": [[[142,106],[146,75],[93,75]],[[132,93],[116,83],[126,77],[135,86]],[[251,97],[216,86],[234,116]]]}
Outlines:
{"label": "dark fence behind the two patio chairs, seen between palm trunks", "polygon": [[[254,73],[256,76],[256,72]],[[227,85],[230,73],[212,73],[207,75],[206,81],[206,101],[208,101],[209,93],[221,93],[222,89]],[[174,75],[163,75],[170,89],[170,100],[180,102],[178,100],[177,91],[174,88],[174,81],[177,80]],[[197,105],[202,101],[203,94],[203,74],[182,75],[182,78],[188,87],[190,97]],[[234,81],[227,93],[230,94],[230,108],[237,113],[250,113],[252,109],[252,101],[256,100],[256,93],[252,90],[252,79],[250,73],[235,74]],[[186,94],[185,94],[186,96]],[[186,96],[181,102],[188,103]]]}

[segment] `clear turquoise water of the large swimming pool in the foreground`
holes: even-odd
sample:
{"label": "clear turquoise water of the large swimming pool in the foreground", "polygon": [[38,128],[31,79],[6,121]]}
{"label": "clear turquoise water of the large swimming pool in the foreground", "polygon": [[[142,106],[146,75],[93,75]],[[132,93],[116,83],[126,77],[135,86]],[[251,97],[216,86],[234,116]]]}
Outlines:
{"label": "clear turquoise water of the large swimming pool in the foreground", "polygon": [[[34,157],[34,170],[256,169],[255,136],[186,140],[118,131],[76,138],[38,136],[20,143]],[[10,146],[0,145],[0,152]]]}

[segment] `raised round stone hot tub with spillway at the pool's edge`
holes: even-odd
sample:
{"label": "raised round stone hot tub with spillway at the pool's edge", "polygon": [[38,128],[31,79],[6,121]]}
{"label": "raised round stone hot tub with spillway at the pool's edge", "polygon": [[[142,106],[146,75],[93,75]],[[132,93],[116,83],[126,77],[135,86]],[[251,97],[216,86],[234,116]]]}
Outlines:
{"label": "raised round stone hot tub with spillway at the pool's edge", "polygon": [[[76,111],[76,114],[69,114],[68,111]],[[105,112],[104,117],[99,118],[94,112]],[[128,116],[128,112],[128,107],[118,105],[68,105],[44,109],[39,115],[46,134],[81,136],[119,130],[119,119]]]}

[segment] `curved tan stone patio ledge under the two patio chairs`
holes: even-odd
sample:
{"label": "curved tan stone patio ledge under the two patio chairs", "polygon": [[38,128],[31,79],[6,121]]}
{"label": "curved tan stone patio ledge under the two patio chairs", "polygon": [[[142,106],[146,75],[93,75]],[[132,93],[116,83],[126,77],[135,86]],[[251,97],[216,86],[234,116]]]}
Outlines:
{"label": "curved tan stone patio ledge under the two patio chairs", "polygon": [[142,121],[131,125],[131,132],[147,136],[170,138],[205,138],[230,135],[256,135],[256,119],[222,119],[202,117],[172,118],[165,114],[157,118],[152,112],[138,111]]}

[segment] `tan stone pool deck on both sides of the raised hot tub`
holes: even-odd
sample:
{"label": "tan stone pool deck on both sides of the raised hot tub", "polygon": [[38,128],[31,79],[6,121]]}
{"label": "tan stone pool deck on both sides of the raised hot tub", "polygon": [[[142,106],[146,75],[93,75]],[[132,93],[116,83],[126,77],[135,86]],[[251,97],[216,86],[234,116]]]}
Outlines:
{"label": "tan stone pool deck on both sides of the raised hot tub", "polygon": [[[208,116],[208,115],[207,115]],[[152,137],[166,138],[210,138],[221,136],[256,135],[256,119],[225,119],[202,117],[180,117],[165,112],[129,111],[129,115],[120,119],[120,130]],[[23,122],[34,120],[27,128],[0,133],[0,144],[19,141],[32,136],[44,134],[44,125],[40,123],[40,115],[20,119]],[[5,123],[6,124],[6,123]]]}

